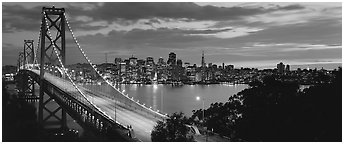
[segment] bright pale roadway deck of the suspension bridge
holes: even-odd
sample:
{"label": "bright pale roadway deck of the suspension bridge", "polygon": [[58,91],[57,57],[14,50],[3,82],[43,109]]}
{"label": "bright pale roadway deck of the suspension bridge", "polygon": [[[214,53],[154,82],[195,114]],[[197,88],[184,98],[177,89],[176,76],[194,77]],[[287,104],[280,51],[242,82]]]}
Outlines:
{"label": "bright pale roadway deck of the suspension bridge", "polygon": [[[39,75],[38,70],[31,71]],[[65,91],[74,93],[77,92],[72,83],[67,80],[53,76],[49,73],[45,73],[44,78],[50,83]],[[149,116],[147,113],[135,110],[127,106],[123,102],[115,101],[115,97],[110,98],[109,96],[98,95],[94,91],[86,89],[79,85],[78,88],[88,97],[89,100],[91,100],[95,105],[97,105],[102,111],[106,112],[113,119],[115,119],[116,117],[117,122],[121,123],[124,126],[131,125],[134,130],[133,136],[141,141],[151,141],[151,131],[153,130],[153,127],[155,126],[158,120],[163,120],[163,118],[161,117],[159,118]]]}

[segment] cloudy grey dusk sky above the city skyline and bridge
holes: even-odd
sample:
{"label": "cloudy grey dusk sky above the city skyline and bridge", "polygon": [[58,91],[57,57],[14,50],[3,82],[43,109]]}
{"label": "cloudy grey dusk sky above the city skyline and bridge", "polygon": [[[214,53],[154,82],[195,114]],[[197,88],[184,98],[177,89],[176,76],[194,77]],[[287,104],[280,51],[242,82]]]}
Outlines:
{"label": "cloudy grey dusk sky above the city skyline and bridge", "polygon": [[[2,64],[16,65],[23,40],[38,40],[42,6],[63,7],[94,63],[115,57],[177,59],[235,67],[342,62],[342,4],[318,3],[2,3]],[[69,32],[67,64],[86,62]]]}

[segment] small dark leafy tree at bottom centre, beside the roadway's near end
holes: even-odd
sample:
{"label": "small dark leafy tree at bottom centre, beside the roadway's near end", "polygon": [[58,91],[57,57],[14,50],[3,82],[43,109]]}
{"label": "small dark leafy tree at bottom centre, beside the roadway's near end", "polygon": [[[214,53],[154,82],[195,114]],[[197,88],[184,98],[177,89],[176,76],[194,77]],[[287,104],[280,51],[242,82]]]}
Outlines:
{"label": "small dark leafy tree at bottom centre, beside the roadway's near end", "polygon": [[151,133],[152,141],[158,142],[183,142],[193,141],[193,136],[189,133],[188,119],[182,112],[173,113],[165,121],[158,121]]}

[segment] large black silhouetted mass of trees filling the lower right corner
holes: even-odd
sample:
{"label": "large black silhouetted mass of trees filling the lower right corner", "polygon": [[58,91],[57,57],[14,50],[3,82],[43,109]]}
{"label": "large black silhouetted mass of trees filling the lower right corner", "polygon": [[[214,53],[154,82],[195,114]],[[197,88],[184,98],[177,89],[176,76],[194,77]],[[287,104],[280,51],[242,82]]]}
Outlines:
{"label": "large black silhouetted mass of trees filling the lower right corner", "polygon": [[[341,141],[341,83],[341,69],[331,83],[304,91],[268,76],[224,104],[211,104],[205,124],[234,141]],[[194,111],[192,118],[201,112]]]}

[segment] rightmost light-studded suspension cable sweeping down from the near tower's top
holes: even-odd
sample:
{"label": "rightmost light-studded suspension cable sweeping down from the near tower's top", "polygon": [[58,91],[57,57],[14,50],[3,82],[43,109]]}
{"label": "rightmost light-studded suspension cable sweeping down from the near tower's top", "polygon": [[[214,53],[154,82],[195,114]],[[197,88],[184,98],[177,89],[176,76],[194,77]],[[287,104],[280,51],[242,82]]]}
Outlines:
{"label": "rightmost light-studded suspension cable sweeping down from the near tower's top", "polygon": [[91,62],[91,60],[87,57],[85,51],[81,48],[81,45],[80,45],[80,43],[78,42],[76,36],[74,35],[74,32],[73,32],[73,30],[72,30],[72,27],[70,26],[69,21],[68,21],[68,19],[67,19],[67,17],[66,17],[66,13],[64,13],[64,17],[65,17],[65,20],[66,20],[66,23],[67,23],[67,27],[68,27],[68,29],[69,29],[69,31],[70,31],[72,37],[73,37],[73,40],[74,40],[75,44],[78,46],[78,49],[80,50],[80,52],[82,53],[82,55],[84,56],[84,58],[87,60],[87,62],[91,65],[91,67],[96,71],[96,73],[97,73],[97,74],[98,74],[98,75],[99,75],[108,85],[110,85],[113,89],[115,89],[116,91],[118,91],[118,92],[119,92],[120,94],[122,94],[124,97],[127,97],[127,98],[128,98],[129,100],[131,100],[132,102],[137,103],[137,104],[141,105],[142,107],[146,108],[147,110],[150,110],[150,111],[152,111],[152,112],[154,112],[154,113],[156,113],[156,114],[158,114],[158,115],[160,115],[160,116],[162,116],[162,117],[167,117],[167,114],[161,114],[161,113],[159,113],[159,110],[154,111],[153,109],[151,109],[151,107],[148,108],[148,107],[145,106],[145,104],[140,104],[138,101],[135,101],[135,100],[133,99],[133,97],[129,98],[128,94],[127,94],[127,95],[124,95],[123,92],[121,92],[119,89],[117,89],[116,87],[114,87],[113,84],[111,84],[108,80],[106,80],[106,79],[100,74],[100,72],[99,72],[98,69],[96,68],[96,65],[93,64],[93,63]]}

